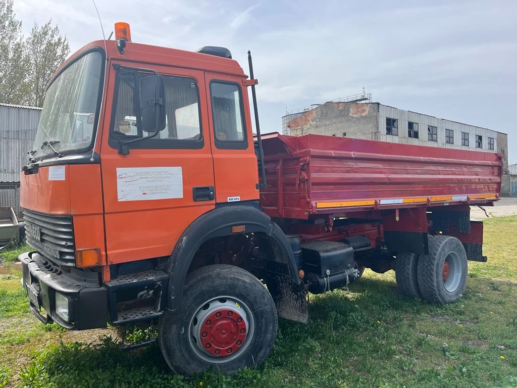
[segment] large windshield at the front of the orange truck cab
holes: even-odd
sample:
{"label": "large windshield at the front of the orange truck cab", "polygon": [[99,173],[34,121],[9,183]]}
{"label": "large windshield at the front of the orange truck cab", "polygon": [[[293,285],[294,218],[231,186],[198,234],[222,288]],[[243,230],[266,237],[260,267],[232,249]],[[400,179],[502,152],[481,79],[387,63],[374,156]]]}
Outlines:
{"label": "large windshield at the front of the orange truck cab", "polygon": [[89,148],[97,122],[102,54],[81,56],[47,89],[34,141],[35,158]]}

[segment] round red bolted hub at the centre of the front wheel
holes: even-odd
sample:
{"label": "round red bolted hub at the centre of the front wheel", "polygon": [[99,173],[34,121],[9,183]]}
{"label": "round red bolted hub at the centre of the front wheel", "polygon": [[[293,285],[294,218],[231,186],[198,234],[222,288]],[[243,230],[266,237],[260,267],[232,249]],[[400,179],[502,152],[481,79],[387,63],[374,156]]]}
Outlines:
{"label": "round red bolted hub at the centre of the front wheel", "polygon": [[246,322],[238,311],[220,308],[209,314],[200,327],[201,344],[215,356],[234,353],[244,343]]}

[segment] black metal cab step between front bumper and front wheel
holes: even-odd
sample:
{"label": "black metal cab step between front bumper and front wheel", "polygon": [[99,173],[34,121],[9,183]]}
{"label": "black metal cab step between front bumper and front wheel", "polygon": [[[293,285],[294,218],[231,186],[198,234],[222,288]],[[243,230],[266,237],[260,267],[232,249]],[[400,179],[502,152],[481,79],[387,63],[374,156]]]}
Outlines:
{"label": "black metal cab step between front bumper and front wheel", "polygon": [[148,321],[163,313],[169,274],[148,270],[117,276],[106,283],[113,325]]}

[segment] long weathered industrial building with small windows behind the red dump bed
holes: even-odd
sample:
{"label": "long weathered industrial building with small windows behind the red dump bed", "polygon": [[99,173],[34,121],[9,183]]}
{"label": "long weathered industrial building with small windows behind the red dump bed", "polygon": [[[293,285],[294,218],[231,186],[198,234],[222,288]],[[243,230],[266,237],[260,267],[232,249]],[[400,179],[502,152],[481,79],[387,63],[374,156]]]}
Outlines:
{"label": "long weathered industrial building with small windows behind the red dump bed", "polygon": [[371,102],[369,93],[286,112],[282,117],[282,133],[292,136],[315,133],[496,152],[503,156],[504,162],[501,195],[510,195],[506,133]]}

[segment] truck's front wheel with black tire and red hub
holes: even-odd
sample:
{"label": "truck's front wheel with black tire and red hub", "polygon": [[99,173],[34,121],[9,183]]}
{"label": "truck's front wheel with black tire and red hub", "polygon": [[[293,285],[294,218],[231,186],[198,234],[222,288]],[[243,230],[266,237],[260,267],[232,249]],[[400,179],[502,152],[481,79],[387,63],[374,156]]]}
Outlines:
{"label": "truck's front wheel with black tire and red hub", "polygon": [[261,364],[275,342],[275,303],[242,268],[216,264],[192,272],[181,305],[179,311],[165,311],[159,322],[163,357],[178,374],[214,367],[231,375]]}

